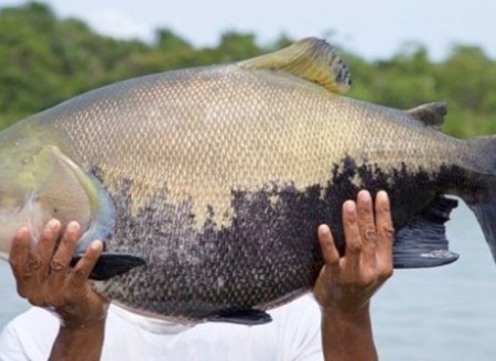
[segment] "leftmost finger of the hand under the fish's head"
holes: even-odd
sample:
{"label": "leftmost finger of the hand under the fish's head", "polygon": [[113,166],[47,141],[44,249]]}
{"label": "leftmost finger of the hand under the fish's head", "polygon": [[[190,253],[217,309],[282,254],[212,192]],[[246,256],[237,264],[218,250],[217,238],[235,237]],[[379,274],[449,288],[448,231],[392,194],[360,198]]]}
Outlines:
{"label": "leftmost finger of the hand under the fish's head", "polygon": [[31,248],[31,234],[26,227],[22,227],[15,233],[9,254],[9,264],[15,277],[18,293],[21,297],[26,297],[26,289],[31,277],[31,270],[28,265]]}

